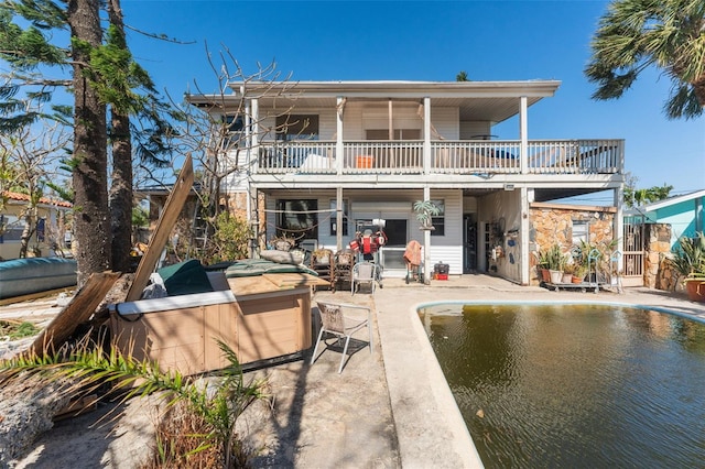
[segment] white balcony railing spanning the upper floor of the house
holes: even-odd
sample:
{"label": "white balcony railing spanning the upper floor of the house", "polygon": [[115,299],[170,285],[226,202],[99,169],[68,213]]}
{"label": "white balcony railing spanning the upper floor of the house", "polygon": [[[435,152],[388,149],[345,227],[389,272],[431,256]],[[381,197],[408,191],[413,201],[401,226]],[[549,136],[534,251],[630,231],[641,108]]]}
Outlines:
{"label": "white balcony railing spanning the upper floor of the house", "polygon": [[[261,142],[253,174],[616,174],[623,140]],[[339,156],[339,157],[338,157]],[[525,161],[525,164],[522,164]]]}

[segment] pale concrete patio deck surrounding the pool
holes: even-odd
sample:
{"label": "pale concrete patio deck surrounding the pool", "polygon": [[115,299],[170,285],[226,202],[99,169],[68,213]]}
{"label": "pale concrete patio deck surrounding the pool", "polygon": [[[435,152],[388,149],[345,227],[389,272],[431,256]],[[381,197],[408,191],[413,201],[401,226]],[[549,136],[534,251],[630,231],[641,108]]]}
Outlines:
{"label": "pale concrete patio deck surrounding the pool", "polygon": [[[668,309],[705,320],[705,304],[688,302],[684,294],[649,288],[627,288],[623,294],[550,292],[488,275],[452,276],[432,281],[431,285],[387,279],[373,297],[366,293],[351,295],[349,291],[319,291],[314,294],[314,306],[316,299],[372,306],[373,353],[360,342],[340,374],[339,352],[319,351],[310,364],[313,348],[305,352],[304,360],[247,372],[246,378],[265,377],[273,397],[271,406],[258,403],[250,407],[239,423],[240,435],[259,450],[253,467],[481,467],[417,320],[419,304],[590,302]],[[366,331],[356,337],[365,340]],[[135,467],[152,443],[149,435],[138,440],[135,434],[147,432],[131,428],[129,421],[119,422],[110,435],[93,439],[90,446],[84,440],[80,460],[76,460],[76,452],[70,460],[62,459],[66,457],[69,428],[87,427],[96,418],[87,414],[58,423],[17,467],[57,467],[64,462],[85,468]]]}

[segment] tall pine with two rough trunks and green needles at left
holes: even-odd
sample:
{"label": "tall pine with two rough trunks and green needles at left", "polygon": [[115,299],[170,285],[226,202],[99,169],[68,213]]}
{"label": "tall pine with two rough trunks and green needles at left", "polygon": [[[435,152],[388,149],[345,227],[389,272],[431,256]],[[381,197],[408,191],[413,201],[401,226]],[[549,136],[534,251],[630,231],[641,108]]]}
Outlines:
{"label": "tall pine with two rough trunks and green needles at left", "polygon": [[[100,28],[102,4],[99,0],[17,0],[0,4],[0,57],[12,67],[0,85],[0,130],[55,118],[48,112],[20,112],[21,105],[29,97],[50,102],[57,88],[72,88],[74,148],[68,165],[75,194],[79,285],[93,272],[111,265],[127,268],[132,231],[132,153],[150,165],[165,165],[164,135],[171,133],[170,124],[162,119],[167,106],[128,50],[119,0],[106,4],[110,25],[105,37]],[[12,23],[13,17],[29,21],[29,26]],[[56,30],[69,31],[70,42],[52,42]],[[50,77],[50,73],[59,78]],[[21,89],[26,90],[26,98],[20,97]],[[142,140],[137,140],[133,149],[134,123],[130,117],[137,114],[148,129],[140,132]],[[108,137],[113,162],[109,194]]]}

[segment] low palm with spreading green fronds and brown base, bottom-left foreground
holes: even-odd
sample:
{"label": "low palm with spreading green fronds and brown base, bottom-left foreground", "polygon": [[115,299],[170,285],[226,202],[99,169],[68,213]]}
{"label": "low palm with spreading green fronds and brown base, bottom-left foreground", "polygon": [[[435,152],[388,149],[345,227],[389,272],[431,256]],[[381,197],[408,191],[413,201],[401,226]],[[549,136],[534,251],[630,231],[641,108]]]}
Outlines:
{"label": "low palm with spreading green fronds and brown base, bottom-left foreground", "polygon": [[[50,353],[20,353],[9,360],[0,360],[0,388],[13,382],[40,389],[52,383],[61,388],[53,399],[64,395],[86,396],[100,386],[109,390],[107,395],[126,402],[133,396],[147,396],[162,392],[167,407],[176,408],[166,414],[158,430],[156,454],[153,465],[148,467],[214,467],[198,463],[194,458],[202,454],[203,460],[219,458],[216,467],[248,467],[247,450],[236,433],[237,419],[257,400],[267,399],[265,380],[246,381],[236,352],[223,340],[215,339],[228,362],[220,370],[219,379],[208,382],[184,377],[176,370],[162,370],[149,359],[139,360],[132,350],[120,350],[117,346],[102,348],[90,337],[77,343],[65,343]],[[34,378],[34,379],[33,379]],[[51,400],[43,405],[51,405]],[[174,407],[180,405],[177,407]],[[180,419],[187,419],[193,433],[173,434],[180,428]],[[184,422],[181,422],[184,424]],[[194,430],[194,426],[197,430]],[[166,429],[166,432],[164,432]],[[171,434],[165,438],[162,433]],[[0,459],[0,465],[2,460]]]}

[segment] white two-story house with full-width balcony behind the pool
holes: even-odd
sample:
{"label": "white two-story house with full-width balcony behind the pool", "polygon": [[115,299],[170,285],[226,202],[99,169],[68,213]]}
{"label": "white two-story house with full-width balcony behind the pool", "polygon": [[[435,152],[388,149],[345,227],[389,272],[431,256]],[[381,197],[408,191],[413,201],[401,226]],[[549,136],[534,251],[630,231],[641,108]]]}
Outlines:
{"label": "white two-story house with full-width balcony behind the pool", "polygon": [[[238,110],[229,120],[245,143],[230,151],[238,171],[225,192],[247,205],[261,246],[286,234],[336,251],[383,220],[384,276],[406,274],[402,254],[416,240],[426,276],[443,262],[451,275],[491,272],[529,284],[532,252],[545,249],[538,239],[555,238],[535,232],[536,217],[552,209],[546,201],[611,190],[615,203],[604,212],[575,208],[583,215],[567,215],[567,226],[541,229],[570,239],[571,220],[585,230],[588,214],[608,220],[609,236],[621,232],[623,141],[530,139],[530,108],[560,84],[246,81],[232,83],[226,96],[188,100],[212,112],[223,111],[212,107],[216,101]],[[518,139],[492,135],[496,124],[517,117]],[[440,210],[433,230],[420,229],[419,200]]]}

